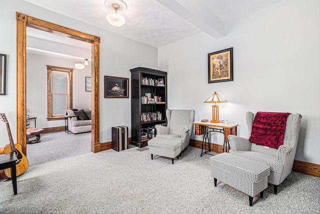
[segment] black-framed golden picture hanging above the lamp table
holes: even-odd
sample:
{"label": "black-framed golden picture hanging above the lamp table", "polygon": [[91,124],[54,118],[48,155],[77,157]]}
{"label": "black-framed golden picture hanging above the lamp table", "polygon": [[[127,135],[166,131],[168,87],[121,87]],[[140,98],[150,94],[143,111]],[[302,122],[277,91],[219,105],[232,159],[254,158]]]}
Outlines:
{"label": "black-framed golden picture hanging above the lamp table", "polygon": [[208,53],[208,83],[233,81],[232,48]]}

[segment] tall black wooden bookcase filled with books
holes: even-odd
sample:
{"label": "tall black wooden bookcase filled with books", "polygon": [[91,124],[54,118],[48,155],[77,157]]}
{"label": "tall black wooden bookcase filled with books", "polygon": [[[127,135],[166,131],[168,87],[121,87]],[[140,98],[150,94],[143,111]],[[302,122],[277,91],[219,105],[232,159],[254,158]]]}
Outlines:
{"label": "tall black wooden bookcase filled with books", "polygon": [[[147,145],[146,139],[141,139],[141,129],[153,127],[156,124],[166,123],[165,110],[167,108],[167,73],[161,70],[136,67],[130,69],[131,71],[131,144],[144,147]],[[142,84],[142,79],[146,78],[147,81]],[[151,81],[152,79],[153,81]],[[164,86],[158,86],[155,80],[162,79]],[[148,83],[154,83],[149,85]],[[160,96],[161,102],[164,103],[141,103],[141,97],[145,93],[151,93],[153,96]],[[161,113],[161,119],[152,121],[141,121],[142,113]]]}

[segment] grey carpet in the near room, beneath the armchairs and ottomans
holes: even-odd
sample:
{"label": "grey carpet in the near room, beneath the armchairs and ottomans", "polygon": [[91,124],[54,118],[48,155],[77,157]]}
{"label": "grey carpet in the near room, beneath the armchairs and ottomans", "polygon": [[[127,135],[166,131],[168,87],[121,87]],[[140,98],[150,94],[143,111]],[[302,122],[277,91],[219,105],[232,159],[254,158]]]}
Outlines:
{"label": "grey carpet in the near room, beneath the armchairs and ottomans", "polygon": [[179,159],[136,147],[85,153],[30,166],[0,183],[0,213],[319,213],[320,177],[291,172],[278,194],[248,196],[218,180],[209,158],[188,146]]}

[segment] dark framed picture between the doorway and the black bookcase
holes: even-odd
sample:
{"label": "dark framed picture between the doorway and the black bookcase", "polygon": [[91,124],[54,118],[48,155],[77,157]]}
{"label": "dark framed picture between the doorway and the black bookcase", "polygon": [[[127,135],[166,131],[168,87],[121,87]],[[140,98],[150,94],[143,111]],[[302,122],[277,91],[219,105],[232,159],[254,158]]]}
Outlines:
{"label": "dark framed picture between the doorway and the black bookcase", "polygon": [[129,78],[104,76],[104,98],[129,98]]}

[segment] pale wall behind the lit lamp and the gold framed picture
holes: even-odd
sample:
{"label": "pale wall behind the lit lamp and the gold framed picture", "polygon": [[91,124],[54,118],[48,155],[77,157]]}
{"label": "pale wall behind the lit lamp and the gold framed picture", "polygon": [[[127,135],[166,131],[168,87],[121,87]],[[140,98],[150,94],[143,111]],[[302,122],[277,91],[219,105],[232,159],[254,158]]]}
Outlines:
{"label": "pale wall behind the lit lamp and the gold framed picture", "polygon": [[[226,36],[199,33],[158,49],[168,71],[168,107],[195,109],[195,121],[211,118],[203,103],[214,91],[220,119],[238,123],[247,137],[246,111],[302,115],[295,159],[320,164],[320,1],[285,0],[226,23]],[[207,54],[233,47],[234,80],[207,83]],[[201,140],[193,134],[191,138]],[[223,144],[223,135],[211,140]]]}

